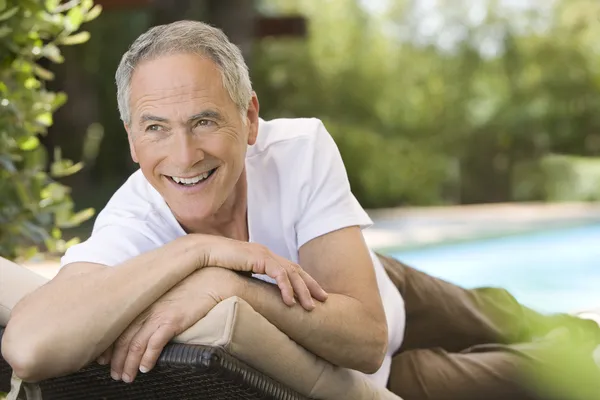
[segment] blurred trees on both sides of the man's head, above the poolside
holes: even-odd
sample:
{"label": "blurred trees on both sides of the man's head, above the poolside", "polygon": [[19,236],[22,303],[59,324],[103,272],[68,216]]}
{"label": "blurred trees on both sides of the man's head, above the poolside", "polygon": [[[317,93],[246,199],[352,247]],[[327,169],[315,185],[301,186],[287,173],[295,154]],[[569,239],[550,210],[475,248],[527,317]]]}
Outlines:
{"label": "blurred trees on both sides of the man's head, above the poolside", "polygon": [[[135,168],[114,72],[150,26],[198,19],[244,50],[264,118],[322,118],[364,207],[600,199],[600,3],[96,1],[64,50],[43,141],[102,206]],[[85,190],[84,190],[85,189]]]}

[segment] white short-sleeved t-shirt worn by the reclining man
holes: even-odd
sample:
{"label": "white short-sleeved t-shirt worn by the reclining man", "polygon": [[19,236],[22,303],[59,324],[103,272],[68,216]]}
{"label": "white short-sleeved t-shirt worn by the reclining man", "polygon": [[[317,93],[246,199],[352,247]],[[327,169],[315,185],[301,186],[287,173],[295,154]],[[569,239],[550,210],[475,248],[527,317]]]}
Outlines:
{"label": "white short-sleeved t-shirt worn by the reclining man", "polygon": [[[339,150],[318,119],[260,120],[257,142],[248,147],[250,241],[298,262],[298,250],[326,233],[372,225],[350,190]],[[117,190],[94,223],[90,238],[71,247],[62,265],[94,262],[114,266],[185,235],[160,194],[140,170]],[[403,299],[371,252],[386,313],[389,348],[375,374],[387,383],[391,356],[404,336]],[[257,276],[269,281],[266,276]]]}

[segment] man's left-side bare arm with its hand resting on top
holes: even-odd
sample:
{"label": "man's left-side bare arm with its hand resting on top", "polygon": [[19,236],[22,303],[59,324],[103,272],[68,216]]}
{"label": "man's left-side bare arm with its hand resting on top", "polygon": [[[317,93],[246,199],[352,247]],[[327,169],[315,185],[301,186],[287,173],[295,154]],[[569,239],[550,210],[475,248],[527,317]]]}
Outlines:
{"label": "man's left-side bare arm with its hand resting on top", "polygon": [[[326,299],[326,293],[308,274],[262,246],[190,234],[115,267],[91,263],[65,266],[56,278],[26,296],[13,309],[3,336],[3,356],[17,376],[26,381],[74,372],[104,353],[117,339],[123,343],[123,334],[134,320],[156,308],[153,306],[176,286],[179,287],[171,296],[180,297],[182,288],[190,285],[178,284],[209,266],[274,278],[283,298],[283,302],[281,297],[278,301],[288,306],[293,304],[295,295],[306,309],[314,307],[309,304],[312,296]],[[224,289],[229,293],[229,285]],[[190,293],[198,294],[194,292],[192,287]],[[214,305],[211,301],[202,304]],[[169,319],[168,329],[163,326],[157,339],[161,346],[209,311],[204,306],[198,307],[197,302],[190,306],[187,318],[177,323],[169,313],[161,317]],[[153,319],[152,316],[150,320]],[[145,340],[149,338],[146,336]],[[134,347],[138,344],[138,352],[145,350],[140,348],[138,340],[131,343]],[[155,353],[153,358],[156,356]]]}

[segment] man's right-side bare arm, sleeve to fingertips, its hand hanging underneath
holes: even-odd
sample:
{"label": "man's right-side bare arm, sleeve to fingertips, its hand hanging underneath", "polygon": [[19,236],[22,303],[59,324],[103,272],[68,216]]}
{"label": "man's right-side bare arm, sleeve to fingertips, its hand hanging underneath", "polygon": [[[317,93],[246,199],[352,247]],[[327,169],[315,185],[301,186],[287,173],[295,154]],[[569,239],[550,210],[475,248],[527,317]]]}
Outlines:
{"label": "man's right-side bare arm, sleeve to fingertips, its hand hanging underneath", "polygon": [[[246,257],[241,251],[244,247],[240,244],[235,251],[242,258]],[[266,251],[258,249],[263,254]],[[103,357],[104,362],[111,363],[115,379],[131,382],[138,370],[145,372],[154,367],[163,347],[175,336],[174,330],[165,331],[165,326],[176,326],[175,331],[180,331],[205,315],[206,299],[212,300],[214,306],[235,295],[321,358],[365,373],[377,371],[387,349],[387,325],[372,261],[360,230],[341,229],[310,241],[301,250],[301,262],[328,288],[327,301],[308,299],[313,303],[311,307],[303,298],[302,306],[290,307],[281,301],[280,288],[275,285],[220,268],[213,268],[208,274],[203,269],[187,277],[138,317],[114,349]],[[297,274],[306,271],[296,267],[289,276]]]}

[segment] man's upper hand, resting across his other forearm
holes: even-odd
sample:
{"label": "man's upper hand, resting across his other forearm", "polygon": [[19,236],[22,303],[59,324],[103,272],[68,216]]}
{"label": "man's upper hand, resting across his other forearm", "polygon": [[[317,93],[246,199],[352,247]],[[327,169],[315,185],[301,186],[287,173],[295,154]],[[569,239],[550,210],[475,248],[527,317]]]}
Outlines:
{"label": "man's upper hand, resting across his other forearm", "polygon": [[288,306],[295,297],[307,311],[315,308],[313,298],[324,302],[327,292],[302,267],[280,257],[267,247],[220,236],[206,236],[209,251],[203,265],[227,268],[238,272],[267,275],[277,282],[281,297]]}

